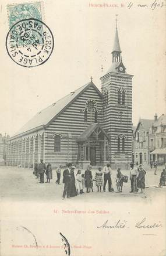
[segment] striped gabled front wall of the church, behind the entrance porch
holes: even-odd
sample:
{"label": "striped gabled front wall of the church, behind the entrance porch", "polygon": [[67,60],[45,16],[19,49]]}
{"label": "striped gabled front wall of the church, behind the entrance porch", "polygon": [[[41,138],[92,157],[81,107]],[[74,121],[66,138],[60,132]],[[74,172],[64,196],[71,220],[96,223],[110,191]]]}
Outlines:
{"label": "striped gabled front wall of the church, behind the entrance porch", "polygon": [[[94,112],[84,122],[84,107],[87,100],[95,100],[98,108],[98,122],[102,121],[102,99],[93,86],[84,91],[65,111],[45,128],[45,161],[53,165],[66,162],[77,163],[77,137],[94,122]],[[54,134],[61,134],[61,152],[54,152]],[[97,147],[96,161],[100,162],[100,149]]]}

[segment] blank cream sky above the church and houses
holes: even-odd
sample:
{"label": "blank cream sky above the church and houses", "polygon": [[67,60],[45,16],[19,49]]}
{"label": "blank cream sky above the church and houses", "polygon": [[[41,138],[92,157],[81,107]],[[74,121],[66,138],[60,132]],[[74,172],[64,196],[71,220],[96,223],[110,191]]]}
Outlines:
{"label": "blank cream sky above the church and houses", "polygon": [[[33,115],[70,91],[90,81],[100,89],[100,77],[112,62],[115,15],[122,61],[133,74],[133,124],[139,118],[153,119],[165,114],[165,9],[152,10],[154,1],[108,1],[119,7],[90,7],[103,1],[44,1],[43,21],[54,35],[55,47],[50,59],[41,66],[27,69],[13,62],[5,48],[9,30],[6,4],[1,4],[1,77],[0,133],[13,135]],[[17,1],[19,2],[19,1]],[[162,1],[161,1],[162,2]],[[121,8],[121,4],[124,7]],[[103,73],[101,72],[103,65]]]}

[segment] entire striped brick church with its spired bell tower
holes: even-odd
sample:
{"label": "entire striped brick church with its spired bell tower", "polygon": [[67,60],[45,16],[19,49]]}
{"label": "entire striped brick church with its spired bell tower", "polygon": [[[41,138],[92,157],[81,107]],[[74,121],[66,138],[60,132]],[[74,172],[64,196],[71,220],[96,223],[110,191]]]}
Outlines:
{"label": "entire striped brick church with its spired bell tower", "polygon": [[116,25],[112,64],[91,81],[38,112],[9,139],[6,165],[32,168],[43,159],[52,167],[72,162],[129,168],[132,160],[132,75],[122,62]]}

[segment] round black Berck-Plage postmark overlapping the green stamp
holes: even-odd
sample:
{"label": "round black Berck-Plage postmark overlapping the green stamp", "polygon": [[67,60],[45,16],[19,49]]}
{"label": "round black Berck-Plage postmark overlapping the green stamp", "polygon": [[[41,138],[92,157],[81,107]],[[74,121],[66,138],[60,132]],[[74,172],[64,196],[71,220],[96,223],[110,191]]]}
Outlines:
{"label": "round black Berck-Plage postmark overlapping the green stamp", "polygon": [[47,62],[54,49],[50,28],[38,19],[23,19],[10,28],[6,36],[10,58],[23,67],[36,67]]}

